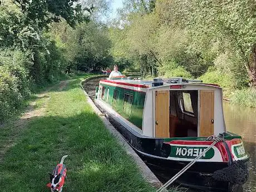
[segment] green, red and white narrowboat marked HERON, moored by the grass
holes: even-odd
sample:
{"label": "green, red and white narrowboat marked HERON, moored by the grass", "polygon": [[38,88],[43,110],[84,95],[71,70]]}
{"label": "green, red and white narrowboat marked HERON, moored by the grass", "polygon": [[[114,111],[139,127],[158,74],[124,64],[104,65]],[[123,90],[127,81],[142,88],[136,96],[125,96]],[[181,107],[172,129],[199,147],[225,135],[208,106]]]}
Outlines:
{"label": "green, red and white narrowboat marked HERON, moored by the grass", "polygon": [[223,137],[178,182],[208,191],[232,191],[247,180],[242,138],[227,132],[218,85],[183,78],[101,80],[95,104],[152,170],[170,179]]}

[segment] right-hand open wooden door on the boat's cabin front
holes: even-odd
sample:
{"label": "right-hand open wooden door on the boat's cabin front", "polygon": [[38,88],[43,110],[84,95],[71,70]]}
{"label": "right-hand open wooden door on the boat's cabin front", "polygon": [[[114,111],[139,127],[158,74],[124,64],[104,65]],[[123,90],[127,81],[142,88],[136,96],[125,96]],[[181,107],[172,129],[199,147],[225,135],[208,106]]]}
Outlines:
{"label": "right-hand open wooden door on the boat's cabin front", "polygon": [[200,91],[200,137],[214,134],[214,91]]}

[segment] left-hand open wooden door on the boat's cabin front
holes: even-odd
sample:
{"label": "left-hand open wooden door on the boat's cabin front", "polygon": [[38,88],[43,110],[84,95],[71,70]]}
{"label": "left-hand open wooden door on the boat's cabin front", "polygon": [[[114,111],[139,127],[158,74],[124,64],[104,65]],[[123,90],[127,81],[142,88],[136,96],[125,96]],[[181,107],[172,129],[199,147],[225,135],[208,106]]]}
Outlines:
{"label": "left-hand open wooden door on the boat's cabin front", "polygon": [[169,91],[155,92],[155,136],[169,137]]}

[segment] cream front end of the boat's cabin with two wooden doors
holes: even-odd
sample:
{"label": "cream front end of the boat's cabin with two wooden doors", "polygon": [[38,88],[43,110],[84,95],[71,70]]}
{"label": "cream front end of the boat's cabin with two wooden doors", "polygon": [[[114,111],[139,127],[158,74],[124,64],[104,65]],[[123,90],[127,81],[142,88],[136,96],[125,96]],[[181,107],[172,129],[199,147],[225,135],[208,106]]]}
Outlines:
{"label": "cream front end of the boat's cabin with two wooden doors", "polygon": [[199,83],[165,84],[147,89],[143,135],[208,137],[226,132],[222,89]]}

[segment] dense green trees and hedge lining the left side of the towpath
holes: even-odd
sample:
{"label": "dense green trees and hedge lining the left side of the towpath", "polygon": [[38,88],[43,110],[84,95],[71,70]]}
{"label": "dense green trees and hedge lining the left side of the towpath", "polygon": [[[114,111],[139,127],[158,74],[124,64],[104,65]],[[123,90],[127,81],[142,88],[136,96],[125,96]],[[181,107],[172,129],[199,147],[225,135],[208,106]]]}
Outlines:
{"label": "dense green trees and hedge lining the left side of the towpath", "polygon": [[[92,9],[82,8],[77,0],[1,1],[0,102],[3,110],[0,122],[21,106],[34,83],[58,81],[62,71],[73,62],[67,59],[63,41],[51,34],[51,23],[64,19],[71,27],[87,23]],[[101,53],[97,57],[101,57]]]}

